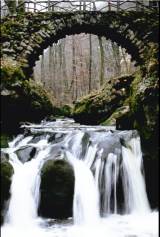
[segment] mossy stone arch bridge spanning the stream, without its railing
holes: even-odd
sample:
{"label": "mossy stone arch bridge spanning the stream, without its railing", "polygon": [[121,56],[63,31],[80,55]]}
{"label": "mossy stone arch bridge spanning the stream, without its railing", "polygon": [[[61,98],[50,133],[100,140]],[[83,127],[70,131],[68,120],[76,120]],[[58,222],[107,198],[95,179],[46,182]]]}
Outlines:
{"label": "mossy stone arch bridge spanning the stream, without its railing", "polygon": [[26,77],[32,75],[43,50],[66,35],[92,33],[125,48],[137,65],[158,42],[158,12],[45,12],[24,13],[2,20],[2,57],[19,63]]}

